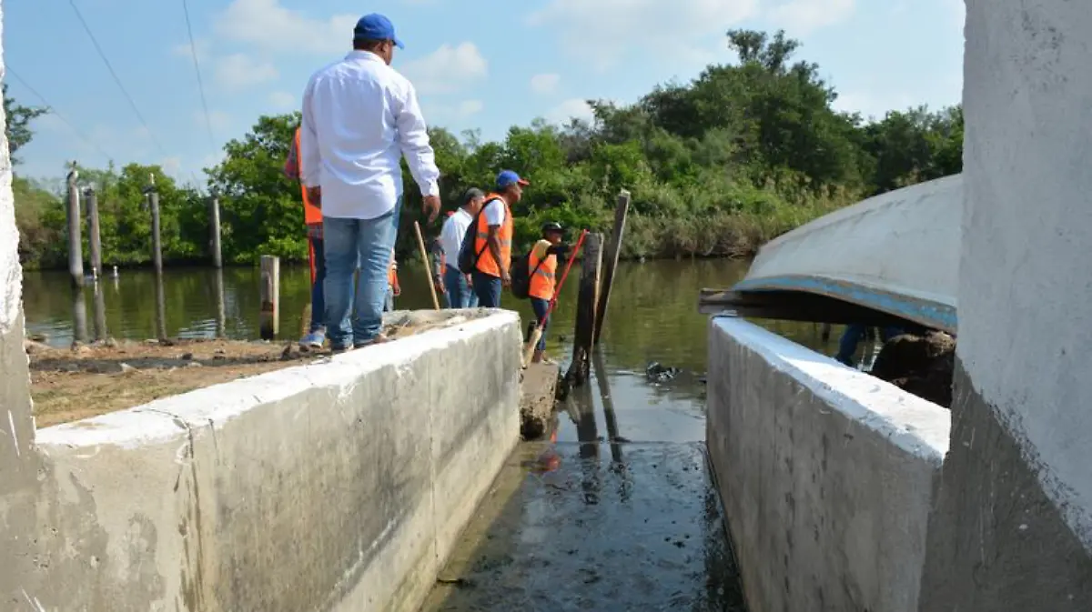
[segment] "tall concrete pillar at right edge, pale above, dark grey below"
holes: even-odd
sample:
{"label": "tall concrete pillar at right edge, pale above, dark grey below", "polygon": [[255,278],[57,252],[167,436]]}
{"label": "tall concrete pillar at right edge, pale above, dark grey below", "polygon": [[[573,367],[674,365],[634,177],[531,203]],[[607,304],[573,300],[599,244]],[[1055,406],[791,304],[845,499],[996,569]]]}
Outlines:
{"label": "tall concrete pillar at right edge, pale above, dark grey below", "polygon": [[954,427],[923,597],[1090,610],[1092,11],[968,0],[965,35]]}

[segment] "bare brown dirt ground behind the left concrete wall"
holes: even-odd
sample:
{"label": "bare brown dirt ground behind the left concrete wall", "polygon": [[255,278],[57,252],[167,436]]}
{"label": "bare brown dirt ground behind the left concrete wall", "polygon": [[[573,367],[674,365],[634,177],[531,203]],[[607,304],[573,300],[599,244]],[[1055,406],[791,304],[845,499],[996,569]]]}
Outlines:
{"label": "bare brown dirt ground behind the left concrete wall", "polygon": [[[396,341],[465,321],[465,316],[406,313],[389,317],[384,333]],[[295,340],[224,339],[110,339],[71,348],[27,340],[26,352],[31,359],[34,417],[39,428],[132,408],[330,355],[329,350],[301,351]]]}

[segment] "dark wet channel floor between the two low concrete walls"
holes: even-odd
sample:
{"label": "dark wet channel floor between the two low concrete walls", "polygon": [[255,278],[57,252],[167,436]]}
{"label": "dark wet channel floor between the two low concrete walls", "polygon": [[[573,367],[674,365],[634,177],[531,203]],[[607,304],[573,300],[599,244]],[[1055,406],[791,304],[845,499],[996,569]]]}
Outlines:
{"label": "dark wet channel floor between the two low concrete walls", "polygon": [[[424,612],[744,612],[704,445],[525,444]],[[756,609],[757,612],[757,609]]]}

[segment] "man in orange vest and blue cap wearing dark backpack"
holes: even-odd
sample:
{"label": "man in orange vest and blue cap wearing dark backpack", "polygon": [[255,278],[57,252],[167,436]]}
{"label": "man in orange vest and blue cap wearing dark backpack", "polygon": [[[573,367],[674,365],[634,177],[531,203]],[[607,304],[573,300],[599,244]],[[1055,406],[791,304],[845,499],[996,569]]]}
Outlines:
{"label": "man in orange vest and blue cap wearing dark backpack", "polygon": [[512,285],[512,206],[523,199],[529,184],[512,170],[502,170],[497,175],[497,194],[486,199],[478,215],[473,284],[483,308],[500,308],[501,288]]}

